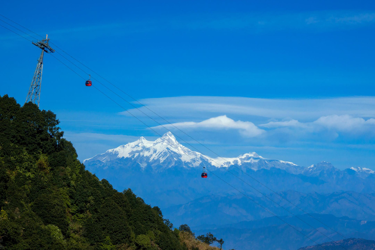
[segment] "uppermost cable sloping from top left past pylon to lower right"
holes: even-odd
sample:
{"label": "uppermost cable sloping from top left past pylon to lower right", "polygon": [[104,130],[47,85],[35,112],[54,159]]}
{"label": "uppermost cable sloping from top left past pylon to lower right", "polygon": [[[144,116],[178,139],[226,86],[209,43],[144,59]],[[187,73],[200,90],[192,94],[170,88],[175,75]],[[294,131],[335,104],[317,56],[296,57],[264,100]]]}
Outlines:
{"label": "uppermost cable sloping from top left past pylon to lower right", "polygon": [[[2,16],[2,15],[1,15]],[[4,17],[4,16],[2,16]],[[5,17],[6,18],[6,17]],[[8,19],[8,18],[6,18]],[[8,19],[10,20],[10,19]],[[10,20],[12,21],[12,20]],[[12,21],[14,22],[14,21]],[[14,22],[16,24],[18,24],[17,22]],[[20,25],[21,27],[29,30],[28,28],[22,26],[21,24],[18,24]],[[30,32],[38,35],[37,33],[29,30]],[[22,31],[23,32],[23,31]],[[25,33],[25,32],[24,32]],[[27,34],[27,33],[25,33]],[[28,34],[27,34],[28,35]],[[30,35],[29,35],[30,36]],[[38,35],[40,37],[42,37],[41,35]],[[35,38],[34,38],[35,39]],[[60,48],[59,46],[57,46],[56,44],[54,44],[53,42],[51,42],[51,44],[55,45],[55,47],[59,48],[62,50],[62,48]],[[122,89],[120,89],[119,87],[117,87],[115,84],[109,82],[108,80],[106,80],[104,77],[102,77],[101,75],[99,75],[98,73],[96,73],[94,70],[92,70],[91,68],[89,68],[88,66],[86,66],[85,64],[83,64],[82,62],[80,62],[79,60],[75,59],[73,56],[71,56],[70,54],[68,54],[67,52],[65,52],[64,50],[62,50],[62,52],[64,52],[66,55],[68,55],[69,57],[71,57],[72,59],[74,59],[75,61],[79,62],[80,64],[82,64],[84,67],[86,67],[87,69],[89,69],[90,71],[94,72],[96,75],[98,75],[100,78],[104,79],[104,81],[108,82],[109,84],[111,84],[112,86],[114,86],[115,88],[117,88],[118,90],[120,90],[121,92],[123,92],[125,95],[127,95],[128,97],[130,97],[131,99],[133,99],[135,102],[137,102],[138,104],[144,106],[146,109],[148,109],[149,111],[151,111],[152,113],[154,113],[156,116],[158,116],[159,118],[161,118],[162,120],[164,120],[165,122],[167,122],[169,125],[172,125],[173,127],[175,127],[176,129],[178,129],[179,131],[181,131],[182,133],[184,133],[185,135],[187,135],[189,138],[191,138],[193,141],[197,142],[199,145],[201,146],[204,146],[205,148],[207,148],[210,152],[214,153],[215,155],[217,155],[219,158],[223,159],[225,162],[227,162],[227,160],[223,157],[221,157],[219,154],[217,154],[216,152],[214,152],[213,150],[211,150],[210,148],[208,148],[207,146],[205,146],[204,144],[200,143],[199,141],[197,141],[196,139],[194,139],[193,137],[191,137],[190,135],[188,135],[185,131],[181,130],[180,128],[178,128],[177,126],[175,126],[174,124],[170,123],[169,121],[167,121],[165,118],[163,118],[162,116],[160,116],[159,114],[157,114],[156,112],[154,112],[153,110],[151,110],[150,108],[148,108],[146,105],[140,103],[138,100],[136,100],[135,98],[133,98],[132,96],[130,96],[129,94],[127,94],[125,91],[123,91]],[[59,53],[59,52],[57,52]],[[59,53],[60,54],[60,53]],[[61,55],[61,54],[60,54]],[[61,55],[62,56],[62,55]],[[63,58],[65,58],[64,56],[62,56]],[[67,58],[65,58],[67,61],[71,62],[70,60],[68,60]],[[78,67],[76,64],[74,64],[73,62],[71,62],[73,65],[75,65],[76,67]],[[78,67],[79,69],[81,69],[80,67]],[[87,72],[85,72],[83,69],[81,69],[85,74],[88,74]],[[93,77],[93,79],[95,79]],[[97,80],[97,79],[95,79]],[[97,80],[98,81],[98,80]],[[104,86],[103,83],[101,83],[100,81],[98,81],[100,84],[102,84]],[[109,88],[107,88],[109,89]],[[112,90],[111,90],[112,91]],[[112,91],[113,92],[113,91]],[[115,92],[113,92],[115,93]],[[117,93],[115,93],[117,96],[119,96]],[[120,97],[120,96],[119,96]],[[122,97],[120,97],[122,98]],[[125,102],[127,102],[124,98],[122,98]],[[134,108],[136,108],[137,110],[141,111],[138,107],[134,106],[133,104],[127,102],[128,104],[132,105]],[[145,114],[143,111],[141,111],[143,114]],[[145,114],[146,115],[146,114]],[[149,117],[151,120],[153,120],[154,122],[156,122],[153,118],[151,118],[150,116],[146,115],[147,117]],[[158,123],[158,122],[156,122]],[[160,123],[158,123],[159,125],[161,125]],[[167,129],[164,125],[161,125],[163,128]],[[168,130],[168,129],[167,129]],[[177,136],[177,135],[176,135]],[[179,139],[181,139],[181,137],[177,136]],[[184,141],[185,143],[187,143],[185,140],[181,139],[182,141]],[[188,143],[187,143],[188,144]],[[191,146],[190,144],[188,144],[189,146]],[[194,146],[191,146],[193,147],[195,150],[201,152],[200,150],[198,150],[197,148],[195,148]],[[202,153],[202,152],[201,152]],[[215,161],[214,161],[215,162]],[[215,162],[216,163],[216,162]],[[216,163],[217,164],[217,163]],[[277,193],[276,191],[272,190],[270,187],[267,187],[266,185],[264,185],[263,183],[261,183],[260,181],[258,181],[257,179],[255,179],[254,177],[252,177],[251,175],[249,175],[247,172],[243,171],[241,168],[235,166],[235,165],[232,165],[233,167],[237,168],[238,170],[240,170],[241,172],[243,172],[244,174],[246,174],[247,176],[249,176],[251,179],[253,179],[255,182],[257,182],[258,184],[260,184],[261,186],[263,187],[266,187],[268,190],[270,190],[272,193],[276,194],[277,196],[279,196],[281,199],[284,199],[285,201],[287,201],[289,204],[291,204],[292,206],[294,206],[295,208],[298,208],[300,211],[304,212],[305,214],[307,214],[308,216],[310,216],[311,218],[315,219],[316,221],[318,221],[319,223],[321,223],[322,225],[326,226],[327,228],[331,229],[332,231],[334,231],[335,233],[339,234],[340,236],[342,236],[344,239],[347,239],[343,234],[341,234],[340,232],[334,230],[333,228],[329,227],[328,225],[326,225],[324,222],[320,221],[319,219],[315,218],[314,216],[312,216],[310,213],[306,212],[304,209],[302,208],[299,208],[297,205],[294,205],[291,201],[289,201],[288,199],[286,199],[285,197],[281,196],[279,193]],[[229,171],[229,170],[228,170]],[[230,172],[230,171],[229,171]],[[230,172],[231,173],[231,172]],[[232,173],[231,173],[232,174]],[[237,177],[237,176],[236,176]],[[237,177],[239,178],[239,177]],[[242,179],[241,179],[242,180]],[[242,180],[243,181],[243,180]],[[249,185],[249,184],[248,184]],[[258,190],[257,190],[258,191]],[[259,192],[259,191],[258,191]],[[262,195],[266,196],[265,194],[261,193]],[[268,196],[266,196],[268,198]],[[274,202],[272,200],[272,202]],[[275,203],[275,202],[274,202]],[[276,203],[277,204],[277,203]],[[279,204],[277,204],[279,205]],[[280,207],[282,207],[281,205],[279,205]],[[284,207],[282,207],[284,208]],[[284,208],[285,209],[285,208]],[[293,214],[294,215],[294,214]],[[296,215],[294,215],[296,216]],[[297,216],[296,216],[297,217]],[[298,218],[298,217],[297,217]]]}

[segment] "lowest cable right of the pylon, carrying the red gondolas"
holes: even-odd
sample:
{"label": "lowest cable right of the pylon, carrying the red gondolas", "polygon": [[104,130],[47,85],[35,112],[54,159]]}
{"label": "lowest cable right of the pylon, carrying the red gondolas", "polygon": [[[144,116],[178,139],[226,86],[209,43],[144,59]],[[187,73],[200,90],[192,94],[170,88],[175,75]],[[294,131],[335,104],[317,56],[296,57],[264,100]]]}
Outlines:
{"label": "lowest cable right of the pylon, carrying the red gondolas", "polygon": [[[54,55],[51,54],[51,56],[53,56],[57,61],[61,62],[63,65],[65,65],[67,68],[69,68],[71,71],[73,71],[75,74],[77,74],[79,77],[81,77],[83,80],[85,80],[83,78],[83,76],[81,76],[79,73],[77,73],[76,71],[74,71],[72,68],[70,68],[68,65],[66,65],[64,62],[62,62],[60,59],[56,58]],[[112,98],[110,98],[108,95],[106,95],[102,90],[100,90],[99,88],[95,87],[93,85],[93,87],[98,90],[100,93],[102,93],[105,97],[107,97],[109,100],[111,100],[113,103],[117,104],[119,107],[121,107],[122,109],[124,109],[126,112],[128,112],[131,116],[133,116],[134,118],[136,118],[138,121],[140,121],[142,124],[146,125],[149,129],[151,129],[152,131],[154,131],[157,135],[159,136],[162,136],[159,132],[155,131],[152,127],[150,127],[149,125],[147,125],[145,122],[143,122],[142,120],[140,120],[138,117],[136,117],[134,114],[132,114],[130,111],[128,111],[125,107],[123,107],[121,104],[117,103],[115,100],[113,100]],[[186,154],[188,157],[190,157],[190,159],[193,159],[190,155]],[[199,164],[201,167],[204,167],[203,165]],[[207,169],[207,168],[206,168]],[[208,169],[207,169],[208,170]],[[275,213],[273,213],[271,210],[269,210],[268,208],[262,206],[260,203],[256,202],[255,200],[253,200],[250,196],[248,196],[247,194],[245,194],[244,192],[240,191],[238,188],[234,187],[233,185],[229,184],[227,181],[225,181],[224,179],[222,179],[221,177],[219,177],[218,175],[216,175],[215,173],[213,173],[212,171],[208,170],[212,175],[214,175],[215,177],[217,177],[218,179],[220,179],[221,181],[223,181],[224,183],[226,183],[227,185],[229,185],[230,187],[232,187],[233,189],[235,189],[236,191],[238,191],[239,193],[241,193],[242,195],[244,195],[245,197],[247,197],[248,199],[250,199],[250,201],[252,201],[253,203],[255,203],[256,205],[258,205],[259,207],[263,208],[264,210],[268,211],[269,213],[271,213],[273,216],[275,216],[276,218],[278,218],[279,220],[281,220],[282,222],[284,222],[285,224],[287,224],[288,226],[290,226],[292,229],[298,231],[299,233],[301,233],[303,236],[305,236],[306,238],[310,239],[312,242],[314,242],[315,244],[319,245],[321,248],[323,248],[325,250],[325,248],[317,243],[316,241],[314,241],[311,237],[309,237],[308,235],[306,235],[305,233],[303,233],[302,231],[298,230],[297,228],[295,228],[294,226],[292,226],[291,224],[289,224],[288,222],[286,222],[285,220],[283,220],[280,216],[276,215]],[[315,229],[316,230],[316,229]],[[327,237],[327,236],[326,236]],[[345,249],[345,248],[344,248]],[[346,250],[346,249],[345,249]]]}

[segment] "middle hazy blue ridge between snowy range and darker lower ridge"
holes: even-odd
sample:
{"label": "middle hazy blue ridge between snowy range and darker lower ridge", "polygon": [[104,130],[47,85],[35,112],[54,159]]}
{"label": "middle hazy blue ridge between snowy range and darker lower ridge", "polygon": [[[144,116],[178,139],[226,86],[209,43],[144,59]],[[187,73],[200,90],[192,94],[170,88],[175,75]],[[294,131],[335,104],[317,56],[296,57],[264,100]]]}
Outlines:
{"label": "middle hazy blue ridge between snowy range and darker lower ridge", "polygon": [[[265,197],[251,196],[250,198],[278,216],[320,213],[333,214],[337,217],[348,216],[361,221],[375,221],[375,194],[356,192],[305,194],[289,190],[280,193],[280,195],[297,205],[298,208],[281,200],[276,194],[268,196],[283,208]],[[173,219],[176,225],[187,223],[195,228],[217,228],[225,224],[259,220],[272,216],[270,212],[243,195],[210,195],[186,204],[165,208],[163,211],[168,218]],[[200,216],[195,216],[197,214],[204,214],[205,220],[202,220]]]}

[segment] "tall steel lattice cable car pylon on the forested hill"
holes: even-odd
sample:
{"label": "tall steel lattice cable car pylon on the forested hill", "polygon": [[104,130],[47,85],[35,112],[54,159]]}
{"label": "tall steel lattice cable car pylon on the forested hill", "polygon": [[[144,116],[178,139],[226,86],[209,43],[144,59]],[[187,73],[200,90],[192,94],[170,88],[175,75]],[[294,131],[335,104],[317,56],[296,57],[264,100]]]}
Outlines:
{"label": "tall steel lattice cable car pylon on the forested hill", "polygon": [[40,102],[40,97],[41,97],[44,51],[47,53],[55,52],[55,50],[52,49],[48,45],[48,41],[49,39],[47,36],[42,41],[33,42],[34,45],[42,49],[42,53],[41,53],[41,56],[39,57],[37,68],[35,69],[34,77],[33,77],[33,80],[31,81],[29,93],[27,94],[25,103],[32,102],[33,104],[37,104],[38,107],[39,107],[39,102]]}

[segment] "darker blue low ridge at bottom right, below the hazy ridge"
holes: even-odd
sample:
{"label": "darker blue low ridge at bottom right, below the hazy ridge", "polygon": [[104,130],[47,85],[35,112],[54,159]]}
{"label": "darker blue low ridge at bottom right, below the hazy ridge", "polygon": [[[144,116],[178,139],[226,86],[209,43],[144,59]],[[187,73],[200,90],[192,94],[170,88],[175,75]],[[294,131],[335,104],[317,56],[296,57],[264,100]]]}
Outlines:
{"label": "darker blue low ridge at bottom right, below the hazy ridge", "polygon": [[[312,214],[312,216],[324,222],[328,227],[308,215],[298,215],[298,217],[282,216],[281,219],[318,244],[343,239],[343,237],[335,233],[335,231],[340,232],[345,238],[366,238],[375,240],[375,222],[364,223],[360,220],[354,220],[348,217],[338,218],[333,215]],[[307,222],[313,228],[318,229],[318,231],[305,224],[300,219]],[[195,229],[194,231],[196,235],[211,232],[216,237],[226,239],[226,249],[296,250],[304,246],[316,245],[312,240],[276,217],[229,224],[216,229]]]}

